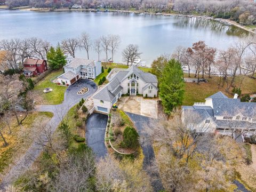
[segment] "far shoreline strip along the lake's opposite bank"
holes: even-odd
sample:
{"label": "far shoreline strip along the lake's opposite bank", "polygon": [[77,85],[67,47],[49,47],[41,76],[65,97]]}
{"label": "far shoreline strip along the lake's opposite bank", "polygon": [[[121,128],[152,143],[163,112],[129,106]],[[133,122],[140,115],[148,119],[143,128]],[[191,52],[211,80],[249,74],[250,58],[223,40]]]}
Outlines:
{"label": "far shoreline strip along the lake's opposite bank", "polygon": [[231,21],[229,19],[222,19],[222,18],[213,18],[210,16],[206,16],[206,15],[185,15],[185,14],[178,14],[178,13],[152,13],[152,12],[141,12],[141,11],[128,11],[128,10],[97,10],[97,9],[55,9],[55,10],[51,10],[49,8],[35,8],[35,9],[22,9],[22,10],[26,10],[26,11],[35,11],[35,12],[65,12],[65,11],[78,11],[78,12],[117,12],[117,13],[135,13],[135,14],[143,14],[143,15],[163,15],[166,17],[170,17],[170,16],[178,16],[178,17],[188,17],[188,18],[202,18],[202,19],[209,19],[209,20],[213,20],[213,21],[217,21],[222,23],[223,25],[226,26],[235,26],[238,27],[240,29],[243,29],[245,31],[248,31],[249,33],[252,34],[256,34],[256,30],[252,30],[252,29],[248,29],[245,26],[235,22],[235,21]]}

